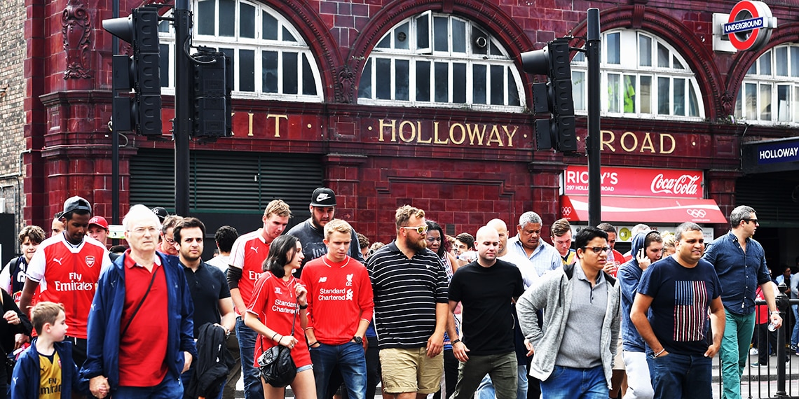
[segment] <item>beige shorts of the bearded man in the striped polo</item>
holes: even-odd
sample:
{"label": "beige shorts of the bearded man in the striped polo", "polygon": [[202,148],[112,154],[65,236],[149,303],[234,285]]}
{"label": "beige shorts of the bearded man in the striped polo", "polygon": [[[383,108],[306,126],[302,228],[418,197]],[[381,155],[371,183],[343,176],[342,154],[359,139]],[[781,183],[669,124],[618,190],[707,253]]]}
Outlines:
{"label": "beige shorts of the bearded man in the striped polo", "polygon": [[424,348],[380,350],[384,393],[434,393],[439,390],[443,354],[427,358]]}

